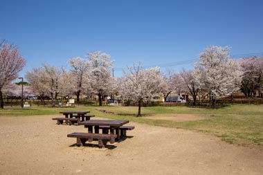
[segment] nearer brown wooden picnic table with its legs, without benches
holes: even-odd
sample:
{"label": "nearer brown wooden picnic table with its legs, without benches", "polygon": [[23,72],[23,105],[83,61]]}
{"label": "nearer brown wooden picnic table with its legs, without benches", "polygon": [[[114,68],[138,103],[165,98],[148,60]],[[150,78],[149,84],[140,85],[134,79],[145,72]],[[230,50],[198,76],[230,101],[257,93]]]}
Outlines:
{"label": "nearer brown wooden picnic table with its legs, without benches", "polygon": [[84,122],[80,122],[79,125],[84,125],[89,129],[89,133],[94,132],[99,133],[99,126],[109,126],[110,134],[114,134],[114,130],[116,130],[116,135],[118,140],[120,140],[120,127],[127,124],[129,120],[87,120]]}

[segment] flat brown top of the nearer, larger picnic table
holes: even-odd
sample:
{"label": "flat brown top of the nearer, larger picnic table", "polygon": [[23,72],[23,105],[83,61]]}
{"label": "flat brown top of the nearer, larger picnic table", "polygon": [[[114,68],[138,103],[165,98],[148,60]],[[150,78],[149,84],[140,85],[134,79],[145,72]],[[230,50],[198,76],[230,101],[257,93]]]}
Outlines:
{"label": "flat brown top of the nearer, larger picnic table", "polygon": [[87,120],[80,122],[79,125],[121,127],[128,122],[129,120]]}

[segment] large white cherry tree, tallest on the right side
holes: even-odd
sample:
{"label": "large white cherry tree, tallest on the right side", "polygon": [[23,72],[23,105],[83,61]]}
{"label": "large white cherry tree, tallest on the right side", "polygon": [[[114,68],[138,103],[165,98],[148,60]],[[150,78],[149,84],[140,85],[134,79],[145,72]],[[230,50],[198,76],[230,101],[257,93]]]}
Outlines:
{"label": "large white cherry tree, tallest on the right side", "polygon": [[199,89],[209,94],[212,107],[215,107],[218,96],[237,91],[242,77],[239,64],[230,59],[228,50],[228,47],[210,46],[199,55],[195,65],[194,78]]}

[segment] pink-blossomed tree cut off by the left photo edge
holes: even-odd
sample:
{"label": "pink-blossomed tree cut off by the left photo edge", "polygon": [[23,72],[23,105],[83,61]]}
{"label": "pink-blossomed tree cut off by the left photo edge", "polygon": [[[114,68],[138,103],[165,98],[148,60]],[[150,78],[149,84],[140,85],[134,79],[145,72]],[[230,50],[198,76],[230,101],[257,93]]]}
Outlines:
{"label": "pink-blossomed tree cut off by the left photo edge", "polygon": [[2,89],[17,79],[19,71],[26,66],[26,61],[17,47],[0,42],[0,107],[3,109]]}

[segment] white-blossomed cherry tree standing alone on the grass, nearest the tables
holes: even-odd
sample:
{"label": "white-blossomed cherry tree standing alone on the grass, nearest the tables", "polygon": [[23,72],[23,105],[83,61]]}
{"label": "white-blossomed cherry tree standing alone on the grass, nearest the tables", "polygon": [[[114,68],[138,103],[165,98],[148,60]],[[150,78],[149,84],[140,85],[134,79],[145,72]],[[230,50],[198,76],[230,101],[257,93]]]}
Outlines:
{"label": "white-blossomed cherry tree standing alone on the grass, nearest the tables", "polygon": [[141,116],[140,108],[143,98],[154,93],[161,92],[163,86],[163,74],[160,68],[142,68],[140,64],[128,67],[128,72],[123,71],[125,77],[120,84],[121,95],[129,96],[138,102],[138,114]]}

